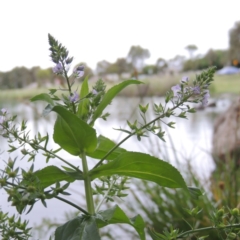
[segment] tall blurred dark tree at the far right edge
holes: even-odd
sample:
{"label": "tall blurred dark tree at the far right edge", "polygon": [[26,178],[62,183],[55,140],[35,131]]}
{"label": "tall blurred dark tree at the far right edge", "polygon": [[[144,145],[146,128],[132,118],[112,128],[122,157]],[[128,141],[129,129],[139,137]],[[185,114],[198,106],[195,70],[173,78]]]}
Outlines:
{"label": "tall blurred dark tree at the far right edge", "polygon": [[229,32],[229,58],[233,65],[240,66],[240,22]]}

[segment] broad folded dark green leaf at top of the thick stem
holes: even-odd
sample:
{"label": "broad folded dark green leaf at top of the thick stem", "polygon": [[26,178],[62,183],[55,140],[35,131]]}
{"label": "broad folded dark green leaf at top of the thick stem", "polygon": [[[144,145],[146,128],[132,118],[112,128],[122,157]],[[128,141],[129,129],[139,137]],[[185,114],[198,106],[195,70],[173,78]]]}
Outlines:
{"label": "broad folded dark green leaf at top of the thick stem", "polygon": [[94,128],[61,106],[55,106],[52,111],[58,114],[53,139],[61,148],[75,156],[96,149],[97,136]]}

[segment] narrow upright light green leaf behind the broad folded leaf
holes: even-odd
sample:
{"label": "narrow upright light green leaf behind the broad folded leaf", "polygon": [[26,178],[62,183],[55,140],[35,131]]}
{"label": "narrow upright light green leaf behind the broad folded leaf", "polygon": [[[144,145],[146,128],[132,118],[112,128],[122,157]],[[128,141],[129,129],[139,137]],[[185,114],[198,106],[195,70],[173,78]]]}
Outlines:
{"label": "narrow upright light green leaf behind the broad folded leaf", "polygon": [[81,118],[84,119],[84,117],[88,114],[88,104],[89,104],[89,99],[85,98],[81,100],[82,98],[86,97],[89,93],[88,89],[88,78],[86,77],[82,83],[81,91],[80,91],[80,102],[78,104],[78,111],[77,115]]}

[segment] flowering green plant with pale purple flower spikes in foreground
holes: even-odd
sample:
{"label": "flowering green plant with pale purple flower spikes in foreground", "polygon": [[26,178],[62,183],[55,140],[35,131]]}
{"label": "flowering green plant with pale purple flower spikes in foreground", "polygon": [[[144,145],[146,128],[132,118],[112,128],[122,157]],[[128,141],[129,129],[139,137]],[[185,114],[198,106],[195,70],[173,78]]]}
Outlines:
{"label": "flowering green plant with pale purple flower spikes in foreground", "polygon": [[[121,148],[121,144],[130,137],[136,136],[140,141],[148,134],[153,134],[165,141],[165,131],[159,121],[173,128],[174,122],[169,120],[172,116],[186,118],[188,113],[195,110],[190,104],[202,103],[206,106],[209,98],[208,87],[213,81],[215,69],[210,68],[196,76],[190,83],[184,77],[179,84],[173,86],[166,93],[165,103],[154,103],[154,119],[148,120],[146,113],[149,104],[139,105],[141,119],[133,122],[127,121],[127,129],[117,129],[126,134],[117,144],[106,136],[97,135],[94,129],[95,121],[99,118],[107,120],[109,113],[104,109],[112,99],[128,85],[138,85],[141,82],[126,80],[106,91],[102,80],[96,82],[89,90],[88,79],[85,78],[80,91],[74,89],[77,78],[84,74],[84,66],[77,66],[72,74],[68,74],[73,57],[68,56],[68,50],[49,34],[51,59],[56,64],[53,68],[55,74],[66,80],[65,89],[49,89],[49,93],[41,93],[33,97],[32,101],[47,103],[43,115],[54,112],[57,115],[54,124],[53,140],[59,145],[57,149],[49,148],[50,136],[38,133],[33,138],[27,131],[27,122],[16,122],[17,116],[9,116],[6,109],[1,110],[0,127],[1,136],[9,143],[8,151],[21,150],[22,158],[32,162],[26,170],[15,167],[17,158],[6,161],[5,169],[1,170],[0,184],[8,193],[8,200],[17,211],[22,214],[30,212],[36,202],[47,207],[50,199],[58,199],[71,205],[81,214],[56,228],[54,238],[65,239],[100,239],[99,229],[109,224],[126,223],[134,227],[140,239],[145,239],[145,222],[137,214],[133,218],[127,217],[124,211],[115,205],[103,210],[104,201],[112,201],[114,197],[124,197],[127,190],[127,179],[137,178],[153,182],[167,188],[182,188],[190,197],[201,193],[195,188],[188,188],[179,171],[171,164],[149,154],[131,152]],[[59,97],[56,93],[60,91]],[[65,151],[78,157],[78,163],[67,161],[61,155]],[[41,154],[46,162],[57,158],[64,164],[61,167],[54,165],[34,170],[37,154]],[[88,159],[96,159],[96,164],[89,169]],[[101,184],[95,184],[95,179]],[[83,181],[85,189],[86,208],[67,199],[68,188],[72,182]],[[95,182],[94,182],[95,183]],[[102,196],[97,205],[94,204],[94,195]],[[228,227],[226,227],[228,228]],[[174,231],[174,236],[183,235]],[[196,230],[195,230],[196,231]],[[3,233],[3,232],[2,232]],[[173,232],[169,235],[172,237]],[[13,235],[16,238],[17,232]],[[5,237],[5,236],[4,236]]]}

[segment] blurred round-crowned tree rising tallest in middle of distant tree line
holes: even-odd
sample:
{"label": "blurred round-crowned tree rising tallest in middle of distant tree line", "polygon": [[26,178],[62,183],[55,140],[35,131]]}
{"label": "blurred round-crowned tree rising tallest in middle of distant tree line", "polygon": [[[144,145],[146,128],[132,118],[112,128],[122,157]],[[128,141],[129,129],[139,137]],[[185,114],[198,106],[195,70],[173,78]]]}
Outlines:
{"label": "blurred round-crowned tree rising tallest in middle of distant tree line", "polygon": [[141,71],[144,60],[150,57],[148,49],[140,46],[132,46],[128,52],[127,60],[132,63],[136,70]]}

